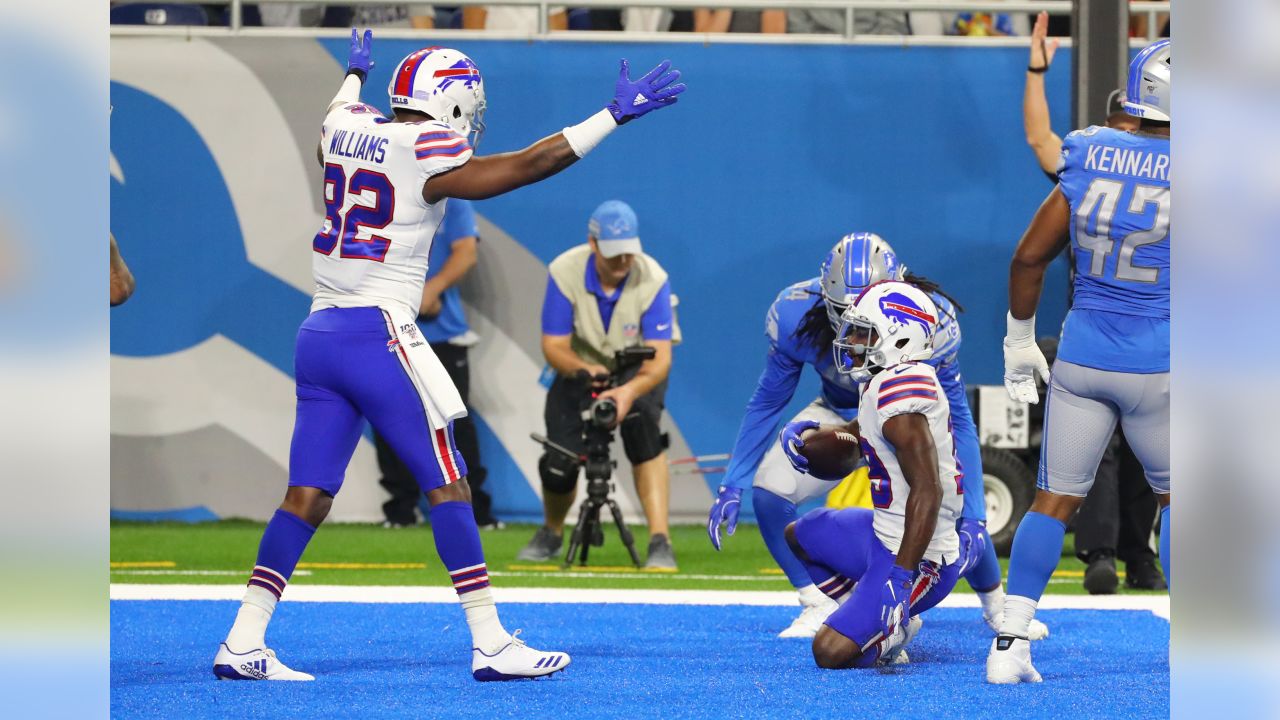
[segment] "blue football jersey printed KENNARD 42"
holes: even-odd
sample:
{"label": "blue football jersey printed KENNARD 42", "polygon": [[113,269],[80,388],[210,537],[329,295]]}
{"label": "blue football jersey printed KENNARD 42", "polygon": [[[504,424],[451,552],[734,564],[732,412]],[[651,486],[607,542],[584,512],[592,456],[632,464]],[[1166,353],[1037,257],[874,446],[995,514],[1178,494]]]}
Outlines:
{"label": "blue football jersey printed KENNARD 42", "polygon": [[1169,372],[1169,138],[1091,127],[1062,140],[1075,297],[1057,356]]}

